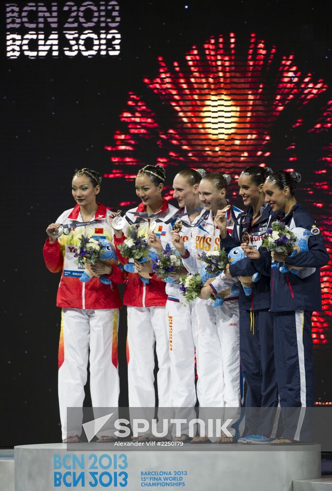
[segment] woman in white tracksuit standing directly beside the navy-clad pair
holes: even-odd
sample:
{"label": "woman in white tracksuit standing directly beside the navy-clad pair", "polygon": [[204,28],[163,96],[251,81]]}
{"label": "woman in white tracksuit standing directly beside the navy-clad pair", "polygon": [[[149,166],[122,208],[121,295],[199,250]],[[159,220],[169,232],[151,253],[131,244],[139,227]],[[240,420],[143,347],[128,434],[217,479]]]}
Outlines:
{"label": "woman in white tracksuit standing directly beside the navy-clad pair", "polygon": [[[210,251],[220,247],[219,229],[214,218],[218,210],[229,202],[225,198],[230,177],[216,172],[207,174],[200,181],[199,196],[205,208],[204,219],[192,232],[192,252],[186,251],[178,234],[173,233],[173,245],[183,256],[183,264],[190,273],[200,271],[201,251]],[[227,212],[227,229],[232,230],[234,218],[241,210],[232,206]],[[220,281],[225,289],[236,282],[224,274]],[[210,288],[210,287],[207,287]],[[210,289],[209,298],[212,294]],[[239,354],[239,307],[237,297],[226,299],[221,307],[213,308],[213,300],[197,299],[196,310],[196,363],[197,398],[202,408],[237,408],[240,406],[240,354]],[[230,442],[221,435],[215,441]],[[207,436],[196,436],[193,443],[208,441]]]}

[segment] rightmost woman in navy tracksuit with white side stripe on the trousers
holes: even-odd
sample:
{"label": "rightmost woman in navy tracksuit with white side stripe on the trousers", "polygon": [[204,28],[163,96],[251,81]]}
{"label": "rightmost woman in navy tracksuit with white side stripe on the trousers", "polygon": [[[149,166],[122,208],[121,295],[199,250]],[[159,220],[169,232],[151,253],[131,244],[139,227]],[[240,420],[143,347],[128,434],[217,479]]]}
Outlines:
{"label": "rightmost woman in navy tracksuit with white side stripe on the trousers", "polygon": [[[283,212],[283,223],[290,229],[303,227],[311,232],[307,252],[290,258],[272,253],[274,261],[303,268],[299,274],[281,273],[277,262],[271,265],[271,312],[274,315],[274,345],[277,384],[282,408],[305,408],[314,405],[314,372],[311,338],[311,315],[322,309],[319,268],[329,262],[315,220],[295,198],[297,172],[278,171],[264,184],[265,201],[274,212]],[[252,248],[248,257],[259,257]],[[266,266],[266,254],[260,255],[256,268]],[[265,266],[264,266],[265,265]],[[304,412],[285,410],[282,437],[274,443],[300,440],[304,428]],[[303,433],[301,433],[303,432]]]}

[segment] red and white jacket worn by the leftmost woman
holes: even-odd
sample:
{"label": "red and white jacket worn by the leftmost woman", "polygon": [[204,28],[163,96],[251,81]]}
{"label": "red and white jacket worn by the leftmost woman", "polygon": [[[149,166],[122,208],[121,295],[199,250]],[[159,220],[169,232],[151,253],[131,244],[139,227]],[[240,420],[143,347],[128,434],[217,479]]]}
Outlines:
{"label": "red and white jacket worn by the leftmost woman", "polygon": [[[104,309],[120,308],[121,299],[116,283],[122,283],[123,273],[117,265],[113,266],[113,271],[108,277],[111,283],[103,284],[98,278],[91,278],[87,283],[80,281],[82,268],[75,264],[74,254],[81,235],[113,240],[113,230],[110,225],[110,211],[100,203],[94,216],[95,223],[77,228],[72,228],[69,235],[61,235],[58,240],[51,244],[47,238],[43,255],[46,267],[52,273],[61,273],[59,288],[57,291],[56,305],[58,307],[79,308],[79,309]],[[82,222],[79,205],[75,208],[66,210],[56,223],[67,224],[71,222]]]}

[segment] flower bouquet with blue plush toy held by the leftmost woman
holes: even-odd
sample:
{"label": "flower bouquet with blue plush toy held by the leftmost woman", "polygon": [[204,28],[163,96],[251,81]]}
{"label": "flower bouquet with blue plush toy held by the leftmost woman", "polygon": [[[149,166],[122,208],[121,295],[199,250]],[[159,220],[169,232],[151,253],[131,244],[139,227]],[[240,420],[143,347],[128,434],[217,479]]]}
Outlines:
{"label": "flower bouquet with blue plush toy held by the leftmost woman", "polygon": [[[84,237],[84,235],[80,238],[78,252],[74,254],[74,257],[77,258],[75,264],[78,264],[84,269],[80,277],[80,281],[83,283],[86,283],[92,278],[91,273],[85,268],[86,263],[94,264],[98,259],[112,259],[113,265],[117,263],[116,253],[110,241],[106,239],[94,239],[93,237],[88,238]],[[104,284],[111,283],[111,280],[107,276],[100,276],[99,279]]]}

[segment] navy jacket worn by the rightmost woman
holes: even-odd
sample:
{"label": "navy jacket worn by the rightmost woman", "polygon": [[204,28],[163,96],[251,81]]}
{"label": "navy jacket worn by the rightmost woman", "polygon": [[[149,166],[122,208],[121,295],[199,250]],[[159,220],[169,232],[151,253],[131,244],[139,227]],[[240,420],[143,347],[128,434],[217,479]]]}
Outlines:
{"label": "navy jacket worn by the rightmost woman", "polygon": [[[270,310],[271,312],[294,310],[312,312],[321,310],[322,296],[319,268],[326,266],[329,262],[329,254],[324,246],[323,237],[315,220],[300,203],[296,203],[289,214],[282,218],[282,221],[290,229],[303,227],[314,232],[314,235],[309,238],[309,250],[300,252],[294,258],[287,258],[286,264],[303,268],[316,268],[316,270],[306,278],[301,278],[292,273],[280,273],[277,267],[278,264],[272,263]],[[256,262],[257,270],[267,271],[266,255],[261,256]]]}

